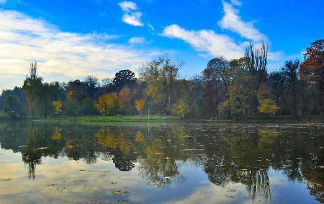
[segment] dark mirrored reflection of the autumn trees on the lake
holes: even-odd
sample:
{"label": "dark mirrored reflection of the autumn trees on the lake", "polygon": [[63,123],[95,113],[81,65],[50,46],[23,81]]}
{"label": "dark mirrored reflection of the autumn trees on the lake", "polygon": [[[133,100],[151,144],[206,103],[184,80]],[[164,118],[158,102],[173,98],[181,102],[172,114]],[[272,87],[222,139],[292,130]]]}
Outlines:
{"label": "dark mirrored reflection of the autumn trees on the lake", "polygon": [[94,164],[112,161],[120,171],[138,163],[139,175],[159,187],[186,181],[186,166],[202,168],[211,183],[246,186],[255,201],[271,200],[268,172],[283,172],[289,181],[307,183],[324,202],[324,128],[320,126],[233,126],[201,124],[89,125],[9,123],[2,125],[4,149],[21,152],[29,179],[43,157],[67,157]]}

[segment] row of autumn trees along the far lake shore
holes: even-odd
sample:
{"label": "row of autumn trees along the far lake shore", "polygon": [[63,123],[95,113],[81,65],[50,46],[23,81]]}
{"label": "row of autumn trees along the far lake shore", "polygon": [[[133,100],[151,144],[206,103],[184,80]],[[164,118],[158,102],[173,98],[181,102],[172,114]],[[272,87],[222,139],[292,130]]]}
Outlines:
{"label": "row of autumn trees along the far lake shore", "polygon": [[185,62],[165,54],[143,64],[138,79],[126,69],[102,83],[91,75],[67,84],[43,83],[34,62],[21,88],[2,91],[0,108],[12,118],[77,116],[85,111],[138,115],[144,108],[181,118],[323,114],[324,39],[311,43],[304,61],[290,59],[270,73],[267,54],[266,42],[259,47],[250,42],[244,57],[213,58],[189,78],[180,77]]}

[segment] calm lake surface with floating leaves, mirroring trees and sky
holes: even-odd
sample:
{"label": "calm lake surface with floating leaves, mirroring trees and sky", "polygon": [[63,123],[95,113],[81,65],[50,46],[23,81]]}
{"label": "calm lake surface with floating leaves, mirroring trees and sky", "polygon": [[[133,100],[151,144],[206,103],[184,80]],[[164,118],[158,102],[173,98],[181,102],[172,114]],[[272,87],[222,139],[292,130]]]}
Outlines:
{"label": "calm lake surface with floating leaves, mirroring trees and sky", "polygon": [[324,203],[323,124],[0,124],[0,203]]}

